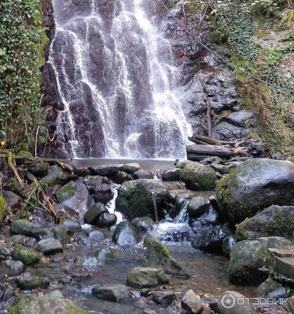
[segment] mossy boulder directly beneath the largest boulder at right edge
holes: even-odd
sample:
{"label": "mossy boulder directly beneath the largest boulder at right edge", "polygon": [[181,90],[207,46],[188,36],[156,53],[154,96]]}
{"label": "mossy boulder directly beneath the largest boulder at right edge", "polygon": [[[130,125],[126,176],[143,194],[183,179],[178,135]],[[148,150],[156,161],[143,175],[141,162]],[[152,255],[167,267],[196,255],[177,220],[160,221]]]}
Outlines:
{"label": "mossy boulder directly beneath the largest boulder at right edge", "polygon": [[261,236],[291,238],[294,231],[294,206],[270,206],[237,226],[238,240],[253,240]]}

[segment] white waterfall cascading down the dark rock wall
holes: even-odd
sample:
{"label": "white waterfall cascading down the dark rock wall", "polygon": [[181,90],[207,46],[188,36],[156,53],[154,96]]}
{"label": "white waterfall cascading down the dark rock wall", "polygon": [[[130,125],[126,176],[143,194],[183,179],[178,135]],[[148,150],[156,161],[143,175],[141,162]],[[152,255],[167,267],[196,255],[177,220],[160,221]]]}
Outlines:
{"label": "white waterfall cascading down the dark rock wall", "polygon": [[172,47],[154,22],[156,3],[52,2],[49,63],[64,105],[62,154],[185,157],[191,127],[177,97]]}

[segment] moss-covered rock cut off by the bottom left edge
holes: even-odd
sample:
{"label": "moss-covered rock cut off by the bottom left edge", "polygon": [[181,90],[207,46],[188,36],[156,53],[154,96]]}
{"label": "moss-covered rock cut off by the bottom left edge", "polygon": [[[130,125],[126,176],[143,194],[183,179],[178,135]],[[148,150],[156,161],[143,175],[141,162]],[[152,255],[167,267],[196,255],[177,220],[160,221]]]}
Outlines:
{"label": "moss-covered rock cut off by the bottom left edge", "polygon": [[79,308],[73,301],[64,299],[59,291],[53,291],[44,296],[19,296],[12,303],[9,313],[40,314],[40,309],[46,309],[46,314],[90,314]]}

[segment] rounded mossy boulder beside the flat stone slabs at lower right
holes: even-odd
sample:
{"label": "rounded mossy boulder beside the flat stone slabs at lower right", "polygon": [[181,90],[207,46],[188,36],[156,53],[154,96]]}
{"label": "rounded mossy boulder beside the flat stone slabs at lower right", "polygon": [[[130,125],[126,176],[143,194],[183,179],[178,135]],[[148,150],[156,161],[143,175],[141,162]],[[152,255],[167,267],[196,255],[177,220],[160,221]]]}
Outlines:
{"label": "rounded mossy boulder beside the flat stone slabs at lower right", "polygon": [[260,268],[268,266],[268,248],[283,249],[293,243],[283,237],[269,236],[237,242],[230,254],[229,279],[236,284],[259,285],[266,279]]}

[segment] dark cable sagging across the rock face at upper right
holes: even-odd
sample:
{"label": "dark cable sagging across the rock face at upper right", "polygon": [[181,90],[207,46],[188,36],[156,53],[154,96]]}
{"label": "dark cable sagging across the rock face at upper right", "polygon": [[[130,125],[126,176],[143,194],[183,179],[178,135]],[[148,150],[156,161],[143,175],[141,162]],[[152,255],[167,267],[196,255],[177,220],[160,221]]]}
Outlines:
{"label": "dark cable sagging across the rock face at upper right", "polygon": [[172,18],[176,21],[177,25],[181,26],[186,33],[188,33],[190,36],[192,36],[194,39],[196,39],[196,41],[207,51],[211,52],[212,54],[214,54],[216,57],[218,57],[219,59],[221,59],[221,61],[223,61],[225,64],[227,64],[228,66],[240,71],[241,73],[245,74],[246,76],[250,77],[250,78],[253,78],[254,80],[260,82],[260,83],[263,83],[263,84],[267,84],[269,85],[270,87],[272,88],[277,88],[277,89],[280,89],[280,90],[283,90],[285,92],[289,92],[289,93],[294,93],[294,90],[291,89],[291,88],[286,88],[286,87],[282,87],[282,86],[279,86],[279,85],[276,85],[276,84],[272,84],[270,82],[267,82],[266,80],[263,80],[261,78],[257,78],[255,77],[254,75],[236,67],[234,64],[232,64],[231,62],[227,61],[225,58],[223,58],[221,55],[219,55],[218,53],[214,52],[212,49],[210,49],[209,47],[207,47],[206,45],[204,45],[201,40],[197,37],[195,37],[191,31],[189,29],[187,29],[186,26],[182,25],[182,23],[179,21],[178,18],[176,18],[171,10],[165,5],[165,3],[162,1],[162,0],[158,0],[159,2],[161,2],[161,4],[164,6],[164,8],[168,11],[168,13],[172,16]]}

